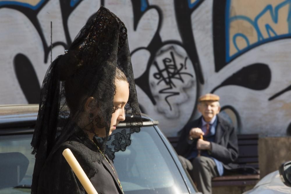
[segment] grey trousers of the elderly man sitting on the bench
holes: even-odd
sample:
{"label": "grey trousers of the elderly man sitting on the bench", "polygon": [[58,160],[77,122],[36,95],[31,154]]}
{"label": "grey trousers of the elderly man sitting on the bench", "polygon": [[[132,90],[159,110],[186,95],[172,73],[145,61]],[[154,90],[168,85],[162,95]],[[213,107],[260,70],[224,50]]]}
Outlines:
{"label": "grey trousers of the elderly man sitting on the bench", "polygon": [[211,179],[219,176],[214,160],[205,156],[198,156],[190,161],[183,156],[179,156],[179,158],[196,183],[198,191],[203,194],[211,194]]}

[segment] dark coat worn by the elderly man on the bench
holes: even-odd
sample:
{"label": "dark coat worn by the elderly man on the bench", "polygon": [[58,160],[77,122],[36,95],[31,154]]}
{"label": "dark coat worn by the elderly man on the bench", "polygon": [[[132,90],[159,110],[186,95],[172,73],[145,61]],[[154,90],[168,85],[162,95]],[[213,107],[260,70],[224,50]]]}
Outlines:
{"label": "dark coat worn by the elderly man on the bench", "polygon": [[[176,151],[185,158],[189,156],[193,147],[196,147],[198,139],[189,140],[189,132],[192,128],[202,127],[201,118],[189,122],[180,131],[180,139]],[[238,157],[237,134],[234,127],[219,115],[217,115],[215,140],[211,142],[211,147],[210,156],[221,161],[224,168],[228,170],[237,168],[236,164],[232,164]]]}

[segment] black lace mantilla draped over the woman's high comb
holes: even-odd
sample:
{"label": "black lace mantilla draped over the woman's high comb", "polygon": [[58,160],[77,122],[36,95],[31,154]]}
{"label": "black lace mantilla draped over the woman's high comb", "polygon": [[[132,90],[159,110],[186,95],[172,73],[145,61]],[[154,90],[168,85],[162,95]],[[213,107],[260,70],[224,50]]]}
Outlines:
{"label": "black lace mantilla draped over the woman's high comb", "polygon": [[[116,67],[125,74],[129,83],[126,109],[130,114],[126,115],[129,118],[126,120],[127,129],[108,136]],[[94,118],[84,111],[86,97],[96,99],[98,115]],[[52,62],[43,80],[38,118],[31,142],[33,154],[36,155],[32,193],[37,193],[38,179],[44,164],[53,158],[64,142],[76,134],[78,127],[75,126],[82,122],[86,114],[98,128],[106,129],[106,137],[98,138],[98,141],[102,152],[111,160],[115,152],[125,151],[131,144],[131,134],[140,130],[139,125],[136,125],[141,122],[141,116],[127,29],[116,15],[103,6],[81,29],[68,52]],[[93,162],[87,160],[87,163]],[[98,173],[98,170],[94,172]]]}

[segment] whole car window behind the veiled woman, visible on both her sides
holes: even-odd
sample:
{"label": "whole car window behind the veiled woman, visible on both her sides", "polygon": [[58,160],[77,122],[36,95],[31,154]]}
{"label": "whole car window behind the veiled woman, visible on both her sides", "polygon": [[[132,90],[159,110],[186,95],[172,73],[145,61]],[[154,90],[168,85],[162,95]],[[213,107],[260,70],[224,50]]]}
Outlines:
{"label": "whole car window behind the veiled woman, visible on both her sides", "polygon": [[[32,134],[0,136],[0,194],[30,193],[25,187],[31,185],[35,162],[31,139]],[[125,194],[189,193],[153,126],[134,133],[126,151],[116,153],[114,165]]]}

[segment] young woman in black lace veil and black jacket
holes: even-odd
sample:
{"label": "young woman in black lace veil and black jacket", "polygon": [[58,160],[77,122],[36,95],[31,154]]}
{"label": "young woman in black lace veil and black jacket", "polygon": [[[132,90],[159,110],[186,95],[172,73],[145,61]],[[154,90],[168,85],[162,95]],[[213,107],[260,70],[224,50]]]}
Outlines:
{"label": "young woman in black lace veil and black jacket", "polygon": [[[130,112],[128,129],[112,132]],[[98,193],[123,193],[114,152],[130,145],[141,122],[127,43],[116,15],[101,7],[45,75],[31,145],[31,193],[86,193],[62,156],[71,149]]]}

